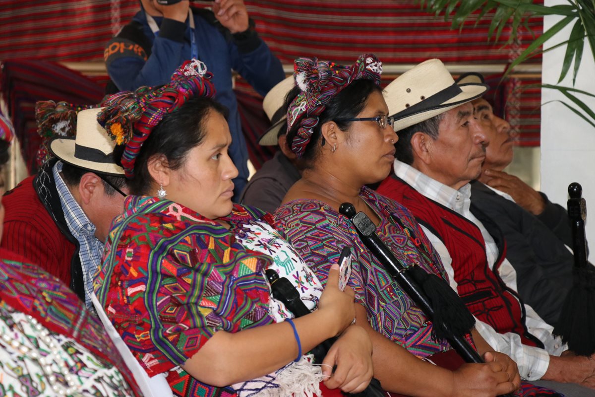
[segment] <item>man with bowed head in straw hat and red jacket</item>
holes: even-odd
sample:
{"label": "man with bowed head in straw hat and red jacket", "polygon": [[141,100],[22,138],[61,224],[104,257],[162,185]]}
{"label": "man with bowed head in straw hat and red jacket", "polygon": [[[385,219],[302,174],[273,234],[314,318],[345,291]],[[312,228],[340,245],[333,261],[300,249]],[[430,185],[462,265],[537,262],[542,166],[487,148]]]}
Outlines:
{"label": "man with bowed head in straw hat and red jacket", "polygon": [[123,211],[127,192],[124,170],[112,159],[114,141],[97,123],[98,112],[80,111],[76,138],[52,140],[57,158],[2,198],[2,247],[61,279],[87,307],[109,224]]}

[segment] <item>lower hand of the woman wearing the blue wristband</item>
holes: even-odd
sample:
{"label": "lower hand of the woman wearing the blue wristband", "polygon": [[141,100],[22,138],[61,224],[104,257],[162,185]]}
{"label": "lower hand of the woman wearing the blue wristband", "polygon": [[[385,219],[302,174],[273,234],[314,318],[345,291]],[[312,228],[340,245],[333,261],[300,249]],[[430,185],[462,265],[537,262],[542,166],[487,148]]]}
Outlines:
{"label": "lower hand of the woman wearing the blue wristband", "polygon": [[322,374],[328,377],[324,384],[329,389],[340,387],[346,393],[359,393],[368,386],[374,376],[372,342],[362,327],[347,327],[333,343],[322,361]]}

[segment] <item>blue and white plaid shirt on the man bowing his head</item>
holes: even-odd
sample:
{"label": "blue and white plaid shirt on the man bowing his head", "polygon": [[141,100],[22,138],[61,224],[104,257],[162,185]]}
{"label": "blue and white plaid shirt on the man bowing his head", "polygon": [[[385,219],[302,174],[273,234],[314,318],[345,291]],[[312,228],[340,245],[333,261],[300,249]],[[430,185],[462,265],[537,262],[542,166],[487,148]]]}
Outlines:
{"label": "blue and white plaid shirt on the man bowing his head", "polygon": [[56,189],[58,190],[58,196],[60,196],[60,204],[62,204],[62,210],[64,211],[64,219],[70,233],[79,240],[79,257],[83,267],[84,304],[88,308],[92,308],[93,303],[90,295],[93,293],[93,277],[99,270],[104,244],[95,237],[95,225],[91,223],[64,183],[60,175],[62,171],[61,161],[54,165],[53,171]]}

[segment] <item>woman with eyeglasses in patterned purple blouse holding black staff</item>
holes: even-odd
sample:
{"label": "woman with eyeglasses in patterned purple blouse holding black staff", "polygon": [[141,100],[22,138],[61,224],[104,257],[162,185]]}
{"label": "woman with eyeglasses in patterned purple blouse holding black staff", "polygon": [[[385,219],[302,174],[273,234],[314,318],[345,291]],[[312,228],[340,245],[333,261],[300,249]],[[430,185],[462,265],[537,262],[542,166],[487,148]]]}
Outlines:
{"label": "woman with eyeglasses in patterned purple blouse holding black staff", "polygon": [[[275,212],[277,229],[322,282],[342,251],[350,250],[356,324],[372,339],[374,374],[384,390],[409,396],[510,392],[518,386],[512,384],[516,367],[503,364],[501,356],[489,355],[488,364],[462,364],[453,357],[449,343],[434,339],[431,321],[339,213],[342,203],[352,203],[374,222],[378,236],[405,266],[419,265],[446,278],[439,256],[411,213],[366,186],[388,176],[398,139],[387,117],[380,72],[374,55],[362,55],[350,67],[308,58],[296,61],[297,87],[285,104],[287,145],[305,170]],[[472,340],[471,335],[466,338]],[[419,360],[430,356],[436,362],[440,357],[443,367]]]}

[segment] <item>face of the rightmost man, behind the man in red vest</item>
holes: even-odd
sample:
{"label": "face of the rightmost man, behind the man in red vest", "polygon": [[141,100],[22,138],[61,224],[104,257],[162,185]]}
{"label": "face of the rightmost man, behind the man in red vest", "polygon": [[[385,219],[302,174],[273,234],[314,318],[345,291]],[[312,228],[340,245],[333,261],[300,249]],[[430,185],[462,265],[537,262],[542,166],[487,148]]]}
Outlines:
{"label": "face of the rightmost man, behind the man in red vest", "polygon": [[502,171],[512,162],[516,135],[511,133],[511,125],[508,121],[494,115],[486,99],[475,99],[472,104],[478,125],[490,140],[490,145],[486,148],[484,169]]}

